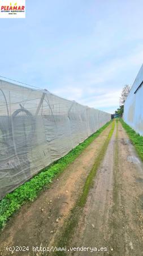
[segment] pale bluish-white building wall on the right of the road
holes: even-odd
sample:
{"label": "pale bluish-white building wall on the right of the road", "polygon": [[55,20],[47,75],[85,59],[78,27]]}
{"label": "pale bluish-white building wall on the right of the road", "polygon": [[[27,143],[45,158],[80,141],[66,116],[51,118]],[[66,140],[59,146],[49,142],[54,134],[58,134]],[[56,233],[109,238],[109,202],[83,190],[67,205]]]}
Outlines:
{"label": "pale bluish-white building wall on the right of the road", "polygon": [[[124,104],[124,121],[143,135],[143,65]],[[140,86],[140,84],[142,85]],[[140,86],[140,88],[138,88]],[[138,88],[138,89],[137,89]],[[137,90],[137,91],[136,91]],[[136,93],[135,93],[136,92]]]}

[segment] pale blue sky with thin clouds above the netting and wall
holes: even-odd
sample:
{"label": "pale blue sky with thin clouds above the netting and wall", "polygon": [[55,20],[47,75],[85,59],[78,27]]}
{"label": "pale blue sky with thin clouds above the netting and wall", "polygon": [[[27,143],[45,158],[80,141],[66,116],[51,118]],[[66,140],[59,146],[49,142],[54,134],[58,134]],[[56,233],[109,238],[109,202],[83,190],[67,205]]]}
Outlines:
{"label": "pale blue sky with thin clouds above the netting and wall", "polygon": [[0,19],[0,75],[112,113],[143,63],[143,1],[27,1]]}

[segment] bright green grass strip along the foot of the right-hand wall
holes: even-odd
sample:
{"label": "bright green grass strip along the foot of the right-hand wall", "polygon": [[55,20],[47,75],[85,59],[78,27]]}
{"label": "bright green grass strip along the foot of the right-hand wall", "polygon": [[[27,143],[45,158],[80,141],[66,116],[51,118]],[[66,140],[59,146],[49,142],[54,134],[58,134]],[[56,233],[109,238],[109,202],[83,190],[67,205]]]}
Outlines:
{"label": "bright green grass strip along the foot of the right-hand wall", "polygon": [[122,118],[120,118],[120,122],[122,123],[125,131],[127,131],[132,144],[135,146],[138,156],[140,156],[141,160],[143,161],[143,137],[136,133],[136,131],[133,130],[129,125],[127,125]]}

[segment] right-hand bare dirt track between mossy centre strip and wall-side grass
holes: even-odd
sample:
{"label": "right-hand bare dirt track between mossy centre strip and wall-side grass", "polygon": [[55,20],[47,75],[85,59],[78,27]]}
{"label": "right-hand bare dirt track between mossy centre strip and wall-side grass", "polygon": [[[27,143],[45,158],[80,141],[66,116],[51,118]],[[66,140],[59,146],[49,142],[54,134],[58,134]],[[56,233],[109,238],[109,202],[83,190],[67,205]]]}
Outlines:
{"label": "right-hand bare dirt track between mossy centre strip and wall-side grass", "polygon": [[[95,255],[143,255],[143,166],[119,123],[71,246],[106,247]],[[90,251],[75,255],[90,255]]]}

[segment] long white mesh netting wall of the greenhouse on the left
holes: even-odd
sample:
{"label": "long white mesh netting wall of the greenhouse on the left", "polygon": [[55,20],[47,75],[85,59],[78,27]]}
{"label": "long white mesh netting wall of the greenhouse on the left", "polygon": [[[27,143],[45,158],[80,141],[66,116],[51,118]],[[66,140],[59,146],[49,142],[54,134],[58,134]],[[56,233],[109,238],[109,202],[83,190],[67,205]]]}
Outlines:
{"label": "long white mesh netting wall of the greenhouse on the left", "polygon": [[0,199],[110,119],[46,90],[0,80]]}

